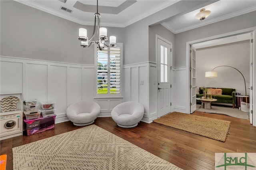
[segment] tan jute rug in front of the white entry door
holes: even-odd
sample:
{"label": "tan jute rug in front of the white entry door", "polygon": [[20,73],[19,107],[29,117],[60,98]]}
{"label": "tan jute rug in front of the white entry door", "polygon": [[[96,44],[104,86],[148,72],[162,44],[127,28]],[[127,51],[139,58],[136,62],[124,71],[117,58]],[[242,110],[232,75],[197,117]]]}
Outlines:
{"label": "tan jute rug in front of the white entry door", "polygon": [[225,142],[230,121],[173,112],[153,122]]}

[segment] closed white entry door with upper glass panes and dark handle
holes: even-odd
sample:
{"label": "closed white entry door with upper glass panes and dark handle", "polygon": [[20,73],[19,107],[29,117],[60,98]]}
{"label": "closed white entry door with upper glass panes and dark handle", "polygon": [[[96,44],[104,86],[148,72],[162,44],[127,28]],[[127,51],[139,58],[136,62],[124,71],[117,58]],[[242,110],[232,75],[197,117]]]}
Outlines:
{"label": "closed white entry door with upper glass panes and dark handle", "polygon": [[171,112],[171,44],[157,39],[158,117]]}

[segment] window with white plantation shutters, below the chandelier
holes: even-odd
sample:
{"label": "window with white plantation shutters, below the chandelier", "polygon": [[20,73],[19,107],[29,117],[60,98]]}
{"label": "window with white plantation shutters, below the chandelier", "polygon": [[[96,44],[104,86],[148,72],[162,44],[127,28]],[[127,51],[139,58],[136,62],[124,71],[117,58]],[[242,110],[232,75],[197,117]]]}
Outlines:
{"label": "window with white plantation shutters, below the chandelier", "polygon": [[97,95],[121,95],[121,47],[97,50]]}

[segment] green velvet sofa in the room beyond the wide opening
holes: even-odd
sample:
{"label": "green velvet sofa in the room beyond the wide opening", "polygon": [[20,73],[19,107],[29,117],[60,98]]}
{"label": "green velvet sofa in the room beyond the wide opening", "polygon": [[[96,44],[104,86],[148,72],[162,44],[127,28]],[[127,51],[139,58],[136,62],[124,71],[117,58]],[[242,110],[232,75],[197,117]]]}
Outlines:
{"label": "green velvet sofa in the room beyond the wide opening", "polygon": [[[236,89],[230,89],[230,88],[214,88],[214,87],[207,87],[208,89],[209,88],[212,88],[212,89],[222,89],[222,95],[212,95],[212,98],[213,99],[217,99],[216,104],[221,104],[221,103],[229,103],[229,104],[232,104],[233,108],[235,106],[235,103],[236,103]],[[196,94],[196,97],[197,98],[200,98],[204,96],[203,94],[203,91],[199,90],[199,94]]]}

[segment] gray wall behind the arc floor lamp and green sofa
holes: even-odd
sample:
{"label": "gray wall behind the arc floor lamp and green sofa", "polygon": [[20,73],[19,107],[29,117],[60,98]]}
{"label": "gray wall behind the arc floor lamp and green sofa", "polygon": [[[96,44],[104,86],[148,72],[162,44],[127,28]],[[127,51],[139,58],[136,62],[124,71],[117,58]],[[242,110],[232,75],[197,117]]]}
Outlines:
{"label": "gray wall behind the arc floor lamp and green sofa", "polygon": [[[205,71],[214,67],[228,65],[238,69],[246,80],[246,87],[250,86],[250,41],[228,43],[212,47],[196,49],[196,86],[233,88],[245,95],[244,79],[242,75],[231,67],[218,67],[216,78],[206,78]],[[249,90],[247,90],[249,95]]]}

